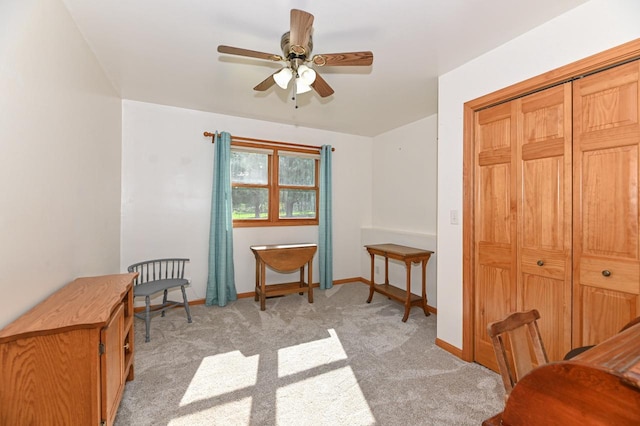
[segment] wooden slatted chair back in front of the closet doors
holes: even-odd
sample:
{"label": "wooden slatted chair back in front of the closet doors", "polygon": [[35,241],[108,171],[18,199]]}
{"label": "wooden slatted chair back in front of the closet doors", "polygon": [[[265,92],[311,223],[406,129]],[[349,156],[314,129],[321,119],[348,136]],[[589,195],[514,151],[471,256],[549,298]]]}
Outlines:
{"label": "wooden slatted chair back in front of the closet doors", "polygon": [[505,401],[518,380],[535,367],[549,362],[537,321],[536,309],[514,312],[487,326],[505,389]]}

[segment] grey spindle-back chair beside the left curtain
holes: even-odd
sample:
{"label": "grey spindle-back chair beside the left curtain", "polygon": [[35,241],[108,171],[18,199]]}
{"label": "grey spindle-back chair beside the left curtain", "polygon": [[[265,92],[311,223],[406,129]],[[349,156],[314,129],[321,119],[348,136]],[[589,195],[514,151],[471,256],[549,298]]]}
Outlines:
{"label": "grey spindle-back chair beside the left curtain", "polygon": [[[189,280],[184,278],[184,266],[189,259],[154,259],[130,265],[129,272],[137,272],[138,277],[133,281],[133,296],[144,297],[145,310],[142,314],[135,314],[136,317],[145,321],[144,341],[150,340],[149,329],[151,327],[151,315],[158,311],[164,316],[165,310],[173,306],[184,306],[187,312],[187,322],[191,323],[191,312],[189,311],[189,301],[184,286],[189,284]],[[182,302],[167,300],[170,289],[180,287],[182,290]],[[162,304],[151,306],[151,296],[163,292]]]}

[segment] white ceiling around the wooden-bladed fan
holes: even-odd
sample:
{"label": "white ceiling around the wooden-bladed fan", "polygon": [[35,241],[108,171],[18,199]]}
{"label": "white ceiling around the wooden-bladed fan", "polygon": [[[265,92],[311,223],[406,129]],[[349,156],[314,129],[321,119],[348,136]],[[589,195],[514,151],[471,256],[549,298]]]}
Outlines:
{"label": "white ceiling around the wooden-bladed fan", "polygon": [[[437,112],[437,77],[586,0],[63,0],[124,99],[375,136]],[[315,16],[313,53],[370,50],[319,69],[335,94],[252,88],[281,65],[290,9]],[[233,131],[233,129],[229,129]],[[240,129],[237,130],[240,132]]]}

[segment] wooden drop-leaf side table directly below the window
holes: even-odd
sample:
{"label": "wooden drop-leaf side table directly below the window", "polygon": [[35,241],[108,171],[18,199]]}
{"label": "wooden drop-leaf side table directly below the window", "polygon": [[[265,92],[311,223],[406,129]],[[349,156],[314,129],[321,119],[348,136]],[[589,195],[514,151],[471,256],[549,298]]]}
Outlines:
{"label": "wooden drop-leaf side table directly below the window", "polygon": [[[256,295],[260,300],[260,310],[264,311],[265,299],[269,296],[282,296],[291,293],[307,293],[309,303],[313,303],[313,255],[315,244],[273,244],[251,246],[256,257]],[[307,265],[308,278],[304,282],[304,267]],[[266,284],[266,267],[279,272],[291,272],[300,269],[300,281],[284,284]]]}

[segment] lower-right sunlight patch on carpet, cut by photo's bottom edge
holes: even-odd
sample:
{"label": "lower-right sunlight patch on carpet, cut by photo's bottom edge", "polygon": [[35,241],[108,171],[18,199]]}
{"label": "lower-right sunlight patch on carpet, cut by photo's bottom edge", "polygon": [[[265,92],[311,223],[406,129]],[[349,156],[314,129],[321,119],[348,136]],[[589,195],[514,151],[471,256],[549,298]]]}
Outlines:
{"label": "lower-right sunlight patch on carpet, cut by photo's bottom edge", "polygon": [[292,383],[276,391],[276,424],[372,425],[375,418],[351,367]]}

